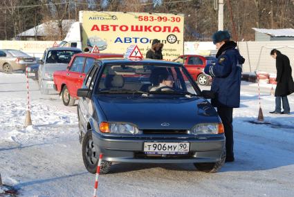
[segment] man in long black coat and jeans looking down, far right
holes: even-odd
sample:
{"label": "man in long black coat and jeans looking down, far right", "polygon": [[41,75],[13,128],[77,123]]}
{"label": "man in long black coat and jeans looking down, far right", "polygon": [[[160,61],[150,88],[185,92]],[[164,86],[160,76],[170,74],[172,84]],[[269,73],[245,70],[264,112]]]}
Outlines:
{"label": "man in long black coat and jeans looking down, far right", "polygon": [[[292,77],[292,69],[290,60],[286,55],[283,55],[279,50],[273,49],[270,51],[270,56],[276,60],[277,68],[277,88],[275,89],[275,111],[270,113],[290,114],[290,106],[287,95],[294,92],[294,82]],[[284,111],[281,112],[281,99],[283,102]]]}

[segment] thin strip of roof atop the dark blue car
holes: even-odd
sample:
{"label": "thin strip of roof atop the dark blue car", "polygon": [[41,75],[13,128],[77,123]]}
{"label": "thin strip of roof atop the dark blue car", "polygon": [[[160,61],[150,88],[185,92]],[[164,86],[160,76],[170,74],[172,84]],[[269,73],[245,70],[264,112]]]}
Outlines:
{"label": "thin strip of roof atop the dark blue car", "polygon": [[183,66],[182,64],[176,62],[169,62],[164,60],[157,60],[157,59],[98,59],[99,62],[102,64],[156,64],[156,65],[165,65],[165,66]]}

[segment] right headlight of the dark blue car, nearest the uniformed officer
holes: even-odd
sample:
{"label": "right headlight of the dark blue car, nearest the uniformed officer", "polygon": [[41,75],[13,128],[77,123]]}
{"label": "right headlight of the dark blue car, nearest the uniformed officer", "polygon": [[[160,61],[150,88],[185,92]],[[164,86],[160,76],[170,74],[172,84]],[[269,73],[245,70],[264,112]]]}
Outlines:
{"label": "right headlight of the dark blue car, nearest the uniformed officer", "polygon": [[194,135],[219,134],[223,133],[224,129],[222,123],[196,124],[192,132]]}

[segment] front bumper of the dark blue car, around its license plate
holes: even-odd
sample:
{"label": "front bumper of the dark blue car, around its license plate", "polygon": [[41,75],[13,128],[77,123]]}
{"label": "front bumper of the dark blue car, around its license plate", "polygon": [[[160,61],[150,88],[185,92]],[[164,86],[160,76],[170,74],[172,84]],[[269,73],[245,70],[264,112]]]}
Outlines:
{"label": "front bumper of the dark blue car, around its license plate", "polygon": [[[92,132],[93,142],[103,153],[103,160],[110,162],[138,163],[196,163],[217,162],[225,149],[226,138],[220,134],[214,138],[109,138]],[[187,154],[165,155],[145,154],[144,142],[189,142]]]}

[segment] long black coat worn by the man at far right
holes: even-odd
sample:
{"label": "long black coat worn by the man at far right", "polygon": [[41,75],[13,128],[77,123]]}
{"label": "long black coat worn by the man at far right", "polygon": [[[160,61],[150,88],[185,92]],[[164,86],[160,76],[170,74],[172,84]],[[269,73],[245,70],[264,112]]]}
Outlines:
{"label": "long black coat worn by the man at far right", "polygon": [[277,67],[277,88],[275,89],[275,97],[290,95],[294,92],[294,82],[290,60],[282,53],[277,54],[275,64]]}

